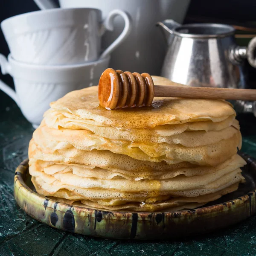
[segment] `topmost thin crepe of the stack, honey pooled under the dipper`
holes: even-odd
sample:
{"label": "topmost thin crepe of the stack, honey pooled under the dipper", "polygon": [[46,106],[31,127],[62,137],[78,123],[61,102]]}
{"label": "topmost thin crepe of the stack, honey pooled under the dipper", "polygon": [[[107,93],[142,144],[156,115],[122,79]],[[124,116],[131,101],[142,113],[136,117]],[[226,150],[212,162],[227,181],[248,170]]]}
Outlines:
{"label": "topmost thin crepe of the stack, honey pooled under the dipper", "polygon": [[51,111],[65,117],[93,120],[102,126],[125,129],[210,120],[221,122],[236,115],[230,103],[222,100],[157,97],[154,98],[152,107],[106,111],[99,106],[97,86],[67,93],[50,106]]}

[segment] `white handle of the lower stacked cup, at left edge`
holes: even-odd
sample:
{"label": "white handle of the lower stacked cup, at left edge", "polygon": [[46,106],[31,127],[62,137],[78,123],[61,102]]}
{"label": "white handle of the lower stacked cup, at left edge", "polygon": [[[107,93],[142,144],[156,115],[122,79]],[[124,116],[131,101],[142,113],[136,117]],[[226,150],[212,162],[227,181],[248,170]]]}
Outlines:
{"label": "white handle of the lower stacked cup, at left edge", "polygon": [[[3,75],[10,74],[11,75],[11,65],[7,61],[7,58],[0,54],[0,69]],[[17,97],[17,94],[15,93],[15,90],[13,90],[11,87],[9,87],[7,84],[5,84],[3,81],[0,80],[0,90],[2,90],[4,93],[9,95],[19,106],[19,100]]]}

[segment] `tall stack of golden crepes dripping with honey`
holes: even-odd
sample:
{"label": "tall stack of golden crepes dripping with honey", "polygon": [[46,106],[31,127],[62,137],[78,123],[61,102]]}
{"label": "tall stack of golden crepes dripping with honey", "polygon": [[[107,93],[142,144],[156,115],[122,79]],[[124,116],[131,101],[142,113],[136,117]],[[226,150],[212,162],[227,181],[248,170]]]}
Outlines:
{"label": "tall stack of golden crepes dripping with honey", "polygon": [[228,102],[204,99],[154,98],[150,108],[109,111],[99,106],[98,87],[73,91],[51,103],[35,130],[29,172],[39,194],[68,204],[196,208],[244,182],[235,116]]}

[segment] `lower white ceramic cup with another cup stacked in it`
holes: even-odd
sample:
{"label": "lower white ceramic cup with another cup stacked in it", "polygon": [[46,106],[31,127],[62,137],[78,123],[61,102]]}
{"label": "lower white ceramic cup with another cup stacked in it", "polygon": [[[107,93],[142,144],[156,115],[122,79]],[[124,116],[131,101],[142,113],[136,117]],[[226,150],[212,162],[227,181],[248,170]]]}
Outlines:
{"label": "lower white ceramic cup with another cup stacked in it", "polygon": [[13,77],[15,91],[1,80],[0,89],[15,100],[36,128],[50,102],[72,90],[97,85],[102,72],[108,68],[109,59],[77,65],[41,66],[17,62],[11,55],[7,60],[0,54],[1,71]]}

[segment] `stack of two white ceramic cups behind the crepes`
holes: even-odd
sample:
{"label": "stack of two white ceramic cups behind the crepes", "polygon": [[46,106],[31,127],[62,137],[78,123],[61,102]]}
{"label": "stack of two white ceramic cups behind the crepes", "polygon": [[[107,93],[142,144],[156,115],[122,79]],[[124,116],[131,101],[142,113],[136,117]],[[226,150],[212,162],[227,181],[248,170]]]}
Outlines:
{"label": "stack of two white ceramic cups behind the crepes", "polygon": [[[101,52],[101,37],[121,16],[125,27]],[[49,9],[3,20],[1,28],[10,49],[0,54],[3,74],[10,74],[15,91],[0,81],[0,89],[15,100],[23,115],[37,127],[49,103],[72,90],[98,84],[110,54],[128,36],[130,17],[113,10],[102,21],[99,9]]]}

